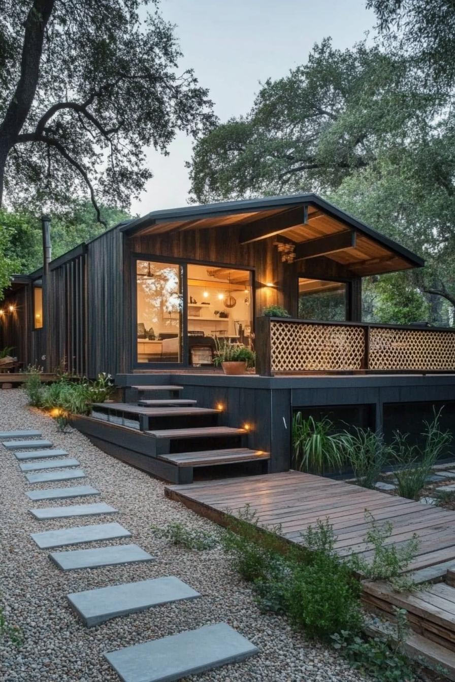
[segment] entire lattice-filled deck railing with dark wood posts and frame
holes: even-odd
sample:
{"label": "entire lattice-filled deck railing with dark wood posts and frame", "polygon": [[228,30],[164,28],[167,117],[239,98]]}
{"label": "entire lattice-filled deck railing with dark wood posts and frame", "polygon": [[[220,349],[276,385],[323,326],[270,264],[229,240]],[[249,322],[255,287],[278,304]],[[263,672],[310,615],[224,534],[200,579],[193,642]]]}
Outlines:
{"label": "entire lattice-filled deck railing with dark wood posts and frame", "polygon": [[455,329],[256,320],[256,372],[455,372]]}

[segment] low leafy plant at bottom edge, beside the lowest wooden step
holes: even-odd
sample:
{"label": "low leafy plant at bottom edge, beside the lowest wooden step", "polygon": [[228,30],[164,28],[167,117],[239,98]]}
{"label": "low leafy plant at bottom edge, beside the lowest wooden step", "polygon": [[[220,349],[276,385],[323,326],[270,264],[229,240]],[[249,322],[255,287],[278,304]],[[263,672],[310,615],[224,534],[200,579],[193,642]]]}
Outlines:
{"label": "low leafy plant at bottom edge, beside the lowest wooden step", "polygon": [[394,610],[396,634],[366,639],[346,630],[331,636],[332,646],[351,667],[379,682],[414,682],[417,677],[405,654],[407,617],[404,609]]}

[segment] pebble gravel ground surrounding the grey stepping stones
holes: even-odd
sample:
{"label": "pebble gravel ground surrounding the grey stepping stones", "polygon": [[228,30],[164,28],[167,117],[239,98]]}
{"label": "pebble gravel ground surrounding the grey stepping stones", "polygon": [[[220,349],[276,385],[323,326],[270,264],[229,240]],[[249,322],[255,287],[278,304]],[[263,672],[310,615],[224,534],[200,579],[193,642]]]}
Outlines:
{"label": "pebble gravel ground surrounding the grey stepping stones", "polygon": [[[168,546],[151,534],[151,524],[179,521],[191,527],[213,530],[214,524],[164,497],[164,486],[104,454],[76,430],[62,434],[53,419],[26,405],[19,389],[0,391],[0,430],[34,428],[55,447],[76,457],[87,477],[58,484],[27,484],[11,452],[0,447],[0,589],[8,625],[18,626],[24,644],[18,649],[0,635],[0,679],[78,682],[117,682],[118,677],[102,657],[131,644],[175,634],[186,629],[226,621],[244,634],[260,654],[246,662],[224,666],[191,679],[197,682],[294,682],[361,681],[340,657],[320,644],[293,632],[281,617],[261,614],[252,591],[231,569],[219,549],[188,552]],[[94,498],[32,502],[27,490],[89,484],[101,491]],[[29,507],[74,505],[104,501],[119,514],[93,518],[38,521]],[[85,524],[118,521],[131,531],[130,539],[78,545],[74,549],[134,542],[158,557],[151,563],[61,572],[46,550],[30,533]],[[63,549],[72,549],[70,547]],[[190,602],[176,602],[87,628],[75,617],[65,595],[121,582],[178,576],[202,595]]]}

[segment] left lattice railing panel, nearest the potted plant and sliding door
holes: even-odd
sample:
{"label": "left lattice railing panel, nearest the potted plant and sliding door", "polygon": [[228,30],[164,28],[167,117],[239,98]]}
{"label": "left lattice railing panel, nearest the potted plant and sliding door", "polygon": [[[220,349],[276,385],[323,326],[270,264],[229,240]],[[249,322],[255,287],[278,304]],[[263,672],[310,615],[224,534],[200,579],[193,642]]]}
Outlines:
{"label": "left lattice railing panel, nearest the potted plant and sliding door", "polygon": [[363,327],[271,321],[271,371],[362,369],[364,336]]}

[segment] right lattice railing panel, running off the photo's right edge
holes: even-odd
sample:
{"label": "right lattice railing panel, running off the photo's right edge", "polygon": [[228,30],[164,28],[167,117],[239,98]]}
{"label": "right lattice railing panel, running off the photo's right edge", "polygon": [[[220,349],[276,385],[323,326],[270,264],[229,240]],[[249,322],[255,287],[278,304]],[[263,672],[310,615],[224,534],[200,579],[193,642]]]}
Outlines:
{"label": "right lattice railing panel, running off the photo's right edge", "polygon": [[370,328],[370,370],[455,370],[455,333]]}

